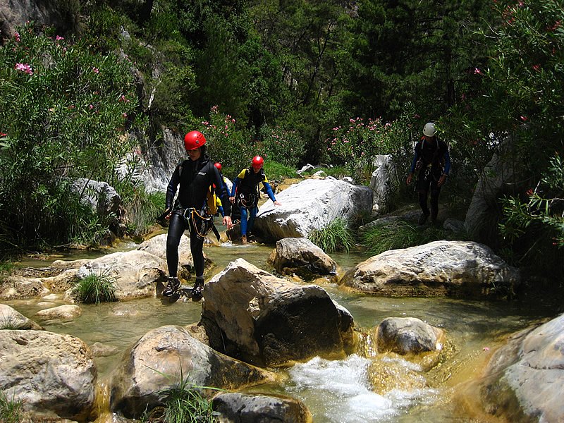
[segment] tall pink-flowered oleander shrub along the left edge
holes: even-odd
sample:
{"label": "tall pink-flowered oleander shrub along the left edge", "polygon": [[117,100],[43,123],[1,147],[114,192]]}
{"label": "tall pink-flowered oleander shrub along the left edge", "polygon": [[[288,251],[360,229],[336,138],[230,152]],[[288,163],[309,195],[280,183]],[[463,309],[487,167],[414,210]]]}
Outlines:
{"label": "tall pink-flowered oleander shrub along the left edge", "polygon": [[75,178],[115,182],[137,104],[127,63],[85,44],[36,35],[0,47],[0,222],[8,243],[68,243],[91,223]]}

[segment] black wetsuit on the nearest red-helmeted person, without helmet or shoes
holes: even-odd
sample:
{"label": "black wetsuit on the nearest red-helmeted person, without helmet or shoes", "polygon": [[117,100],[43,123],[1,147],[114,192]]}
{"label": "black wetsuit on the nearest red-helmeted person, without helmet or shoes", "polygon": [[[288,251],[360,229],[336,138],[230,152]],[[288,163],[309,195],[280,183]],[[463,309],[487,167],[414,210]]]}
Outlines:
{"label": "black wetsuit on the nearest red-helmeted person, without helmet or shoes", "polygon": [[[222,179],[214,163],[207,156],[200,157],[196,161],[188,159],[176,166],[171,181],[168,183],[168,188],[166,188],[166,208],[170,209],[173,205],[176,189],[180,185],[166,238],[166,264],[168,264],[170,276],[176,277],[180,237],[189,226],[188,221],[183,216],[184,210],[192,207],[197,210],[202,209],[210,185],[215,184],[216,186],[216,193],[221,197],[225,216],[231,216],[231,203]],[[190,228],[190,251],[194,259],[197,278],[202,278],[204,275],[203,247],[204,239],[198,237],[194,229]]]}

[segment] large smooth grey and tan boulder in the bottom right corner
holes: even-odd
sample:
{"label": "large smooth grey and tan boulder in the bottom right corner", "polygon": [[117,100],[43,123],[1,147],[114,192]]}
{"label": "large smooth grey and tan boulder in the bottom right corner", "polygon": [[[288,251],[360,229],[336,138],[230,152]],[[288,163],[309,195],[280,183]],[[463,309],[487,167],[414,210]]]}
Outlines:
{"label": "large smooth grey and tan boulder in the bottom right corner", "polygon": [[494,353],[479,396],[486,412],[508,422],[562,422],[564,314],[515,333]]}

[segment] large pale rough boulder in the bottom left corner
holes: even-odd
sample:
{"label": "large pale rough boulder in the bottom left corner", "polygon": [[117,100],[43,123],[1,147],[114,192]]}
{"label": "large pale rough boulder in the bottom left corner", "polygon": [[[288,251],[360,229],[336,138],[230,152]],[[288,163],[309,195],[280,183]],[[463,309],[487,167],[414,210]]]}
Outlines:
{"label": "large pale rough boulder in the bottom left corner", "polygon": [[90,349],[79,338],[0,331],[0,391],[22,401],[24,410],[34,415],[32,421],[86,421],[94,411],[96,379]]}

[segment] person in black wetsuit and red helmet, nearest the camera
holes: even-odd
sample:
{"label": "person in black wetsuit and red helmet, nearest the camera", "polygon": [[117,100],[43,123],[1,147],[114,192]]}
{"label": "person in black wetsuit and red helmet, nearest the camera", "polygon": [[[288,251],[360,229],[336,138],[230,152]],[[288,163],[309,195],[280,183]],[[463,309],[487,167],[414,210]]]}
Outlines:
{"label": "person in black wetsuit and red helmet, nearest the camera", "polygon": [[[204,246],[205,235],[202,236],[198,225],[202,208],[210,186],[216,186],[216,193],[223,200],[223,225],[231,228],[231,205],[226,186],[218,169],[206,154],[206,138],[197,130],[192,130],[184,137],[184,147],[190,159],[176,166],[166,189],[166,215],[170,219],[166,238],[166,263],[168,264],[168,281],[163,290],[164,296],[173,295],[180,286],[178,281],[178,245],[185,229],[190,228],[190,251],[194,259],[196,281],[192,289],[192,297],[202,295],[204,288]],[[173,204],[176,190],[178,198]],[[213,220],[212,220],[213,222]]]}

